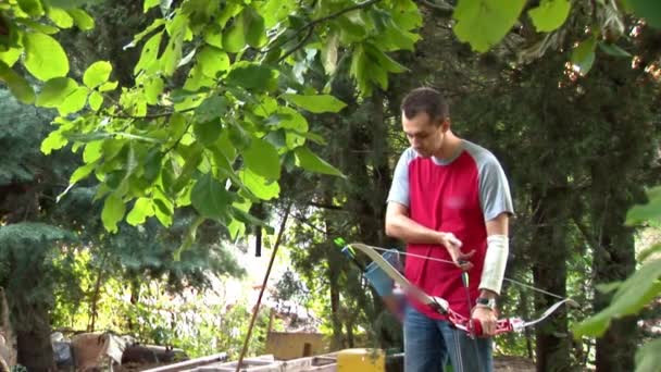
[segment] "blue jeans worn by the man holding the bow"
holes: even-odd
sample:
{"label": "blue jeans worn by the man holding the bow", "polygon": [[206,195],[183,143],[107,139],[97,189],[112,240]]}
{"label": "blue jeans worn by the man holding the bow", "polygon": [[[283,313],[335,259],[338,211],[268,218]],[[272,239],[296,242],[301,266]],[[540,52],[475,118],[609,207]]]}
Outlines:
{"label": "blue jeans worn by the man holding the bow", "polygon": [[411,306],[404,312],[404,372],[491,372],[491,338],[472,339],[448,321],[435,320]]}

